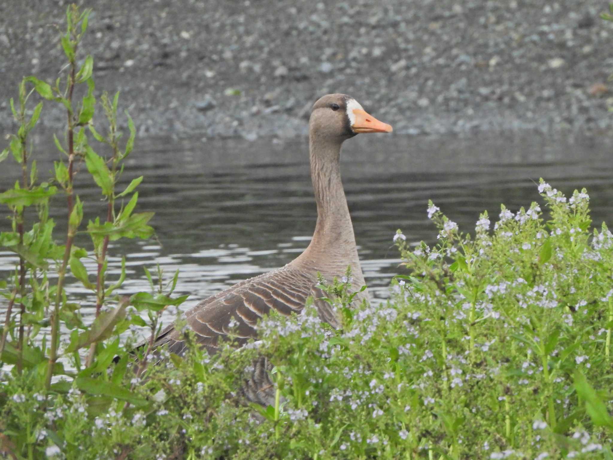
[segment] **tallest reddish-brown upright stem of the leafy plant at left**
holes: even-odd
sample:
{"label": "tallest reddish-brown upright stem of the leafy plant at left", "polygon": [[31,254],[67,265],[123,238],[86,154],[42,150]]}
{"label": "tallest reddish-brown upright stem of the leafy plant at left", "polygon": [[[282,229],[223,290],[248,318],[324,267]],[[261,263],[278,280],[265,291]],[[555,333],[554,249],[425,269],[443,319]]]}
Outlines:
{"label": "tallest reddish-brown upright stem of the leafy plant at left", "polygon": [[[76,52],[76,47],[75,47]],[[68,102],[72,107],[72,92],[75,85],[75,63],[70,63],[70,77],[68,83]],[[59,304],[62,300],[62,294],[64,292],[64,277],[66,277],[66,267],[68,266],[68,259],[70,258],[70,250],[72,249],[72,240],[74,239],[75,229],[70,228],[70,214],[72,213],[73,205],[73,188],[72,180],[74,174],[74,125],[72,120],[72,113],[69,109],[67,111],[68,118],[68,183],[66,186],[67,202],[68,202],[68,235],[66,237],[66,249],[64,250],[64,259],[62,266],[58,270],[58,290],[55,297],[55,307],[53,309],[53,315],[51,317],[51,343],[49,347],[49,363],[47,366],[47,376],[45,378],[45,388],[49,389],[51,386],[51,377],[53,376],[53,367],[58,359],[58,332],[59,332]]]}

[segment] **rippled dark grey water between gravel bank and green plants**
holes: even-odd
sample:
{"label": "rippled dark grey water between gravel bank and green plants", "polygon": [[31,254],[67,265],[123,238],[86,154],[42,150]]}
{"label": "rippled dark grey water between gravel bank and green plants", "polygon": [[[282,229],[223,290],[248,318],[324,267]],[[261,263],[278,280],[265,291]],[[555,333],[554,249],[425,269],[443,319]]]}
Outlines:
{"label": "rippled dark grey water between gravel bank and green plants", "polygon": [[[39,147],[44,147],[43,141]],[[473,231],[485,209],[495,217],[501,202],[516,210],[538,200],[535,182],[544,177],[566,194],[588,188],[595,224],[607,220],[613,209],[610,151],[604,141],[552,142],[540,137],[349,140],[343,148],[343,183],[371,295],[384,298],[390,277],[398,272],[392,247],[397,228],[411,242],[435,240],[425,212],[428,199],[462,230]],[[52,159],[38,160],[41,177],[52,169]],[[0,190],[14,182],[17,170],[9,163],[2,163]],[[82,184],[84,166],[82,171],[76,188],[86,202],[86,218],[103,215],[105,204],[97,189]],[[127,185],[145,176],[139,207],[156,212],[151,224],[161,244],[126,240],[111,246],[109,274],[118,275],[125,253],[128,277],[122,293],[131,294],[148,289],[143,266],[151,269],[159,263],[169,273],[180,269],[177,291],[191,294],[183,305],[188,308],[238,280],[283,266],[307,247],[314,229],[316,209],[308,174],[305,140],[140,142],[122,182]],[[58,237],[63,235],[64,209],[63,199],[56,199],[51,217],[61,219]],[[0,230],[8,229],[8,221],[0,221]],[[87,245],[88,240],[82,236],[79,243]],[[0,252],[0,279],[7,278],[14,260],[12,253]],[[86,266],[93,277],[95,264]],[[85,289],[77,283],[69,286],[93,304]]]}

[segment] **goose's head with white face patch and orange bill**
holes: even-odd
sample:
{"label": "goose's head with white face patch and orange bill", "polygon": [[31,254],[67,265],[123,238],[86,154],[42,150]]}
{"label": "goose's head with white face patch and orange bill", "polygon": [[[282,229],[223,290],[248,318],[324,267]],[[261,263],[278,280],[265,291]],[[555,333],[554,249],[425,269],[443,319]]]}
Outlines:
{"label": "goose's head with white face patch and orange bill", "polygon": [[346,94],[327,94],[311,110],[311,135],[343,142],[360,132],[392,132],[392,126],[369,115],[356,99]]}

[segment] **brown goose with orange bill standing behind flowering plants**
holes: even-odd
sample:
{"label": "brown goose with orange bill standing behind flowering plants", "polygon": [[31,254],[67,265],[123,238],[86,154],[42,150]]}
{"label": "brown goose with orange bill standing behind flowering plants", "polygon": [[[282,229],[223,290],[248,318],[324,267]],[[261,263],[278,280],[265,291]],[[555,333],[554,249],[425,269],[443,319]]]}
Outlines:
{"label": "brown goose with orange bill standing behind flowering plants", "polygon": [[[317,203],[317,223],[307,249],[280,269],[273,270],[215,294],[185,313],[196,341],[208,353],[215,353],[224,336],[232,333],[233,343],[242,346],[256,337],[257,321],[275,310],[283,315],[301,313],[307,297],[313,296],[322,321],[338,327],[338,318],[318,285],[318,273],[326,280],[345,275],[351,267],[352,289],[359,291],[364,275],[357,255],[356,238],[341,183],[340,151],[345,140],[359,133],[392,132],[392,126],[369,115],[356,99],[346,94],[327,94],[313,105],[309,120],[311,179]],[[356,300],[367,299],[362,291]],[[180,330],[170,324],[153,343],[167,345],[181,355],[186,342]],[[265,366],[264,366],[265,367]],[[256,374],[263,366],[256,366]],[[267,375],[252,380],[266,380]]]}

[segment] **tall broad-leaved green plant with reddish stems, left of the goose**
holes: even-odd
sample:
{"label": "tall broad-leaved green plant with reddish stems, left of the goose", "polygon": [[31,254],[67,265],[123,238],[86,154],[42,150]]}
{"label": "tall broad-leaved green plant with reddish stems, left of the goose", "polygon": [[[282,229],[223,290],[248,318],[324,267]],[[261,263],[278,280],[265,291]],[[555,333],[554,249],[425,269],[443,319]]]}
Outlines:
{"label": "tall broad-leaved green plant with reddish stems, left of the goose", "polygon": [[[132,180],[123,191],[116,191],[123,162],[131,154],[135,139],[134,123],[126,113],[130,134],[127,142],[120,145],[119,93],[112,99],[102,93],[100,98],[107,134],[102,135],[94,128],[96,88],[92,56],[86,56],[81,66],[77,65],[78,47],[86,33],[89,12],[80,12],[76,6],[67,9],[67,31],[61,36],[61,46],[68,61],[64,79],[49,84],[36,77],[27,77],[20,83],[17,107],[13,99],[10,100],[13,117],[20,127],[17,134],[10,137],[9,147],[0,153],[0,161],[6,161],[12,153],[13,159],[21,165],[20,180],[12,189],[0,193],[0,204],[7,206],[12,227],[11,231],[0,233],[0,245],[18,256],[13,275],[0,282],[0,294],[8,301],[0,339],[0,362],[13,365],[11,385],[38,395],[33,401],[12,408],[13,414],[23,416],[19,421],[9,417],[0,423],[4,432],[3,449],[13,457],[33,458],[45,451],[45,443],[37,440],[35,434],[44,426],[36,412],[49,415],[58,410],[73,386],[84,393],[89,412],[110,407],[116,400],[129,401],[132,398],[129,391],[119,385],[128,358],[115,337],[132,324],[151,324],[155,328],[159,316],[156,312],[166,305],[178,305],[186,298],[170,299],[159,291],[120,299],[114,293],[124,282],[125,260],[121,275],[112,283],[107,280],[109,242],[151,237],[153,228],[148,221],[153,213],[134,212],[138,199],[135,188],[142,177]],[[86,90],[80,90],[81,86]],[[53,136],[61,158],[54,164],[54,177],[44,182],[39,182],[36,153],[29,141],[43,111],[43,102],[29,111],[33,93],[66,109],[64,142]],[[77,103],[76,95],[80,93],[83,97]],[[97,141],[98,147],[107,146],[108,158],[94,151],[89,136]],[[105,218],[90,220],[86,228],[82,224],[83,202],[74,186],[75,169],[81,163],[85,163],[107,202]],[[66,197],[64,245],[56,243],[56,222],[48,217],[50,201],[60,195],[59,191]],[[77,245],[77,241],[85,243],[87,236],[91,239],[89,251]],[[83,258],[96,261],[95,275],[88,273]],[[71,275],[96,297],[95,319],[91,324],[83,321],[80,300],[71,298],[66,292],[66,277]],[[170,293],[176,280],[177,274],[169,286]],[[128,305],[134,307],[130,315],[127,314]],[[150,323],[141,318],[139,312],[143,310],[149,312]],[[45,328],[49,326],[47,333]],[[69,331],[70,338],[61,345],[63,331]],[[123,367],[116,367],[109,375],[106,370],[115,353],[123,354]],[[10,399],[9,394],[1,393],[0,402],[5,413],[10,408],[9,401],[20,402],[21,398],[13,394]],[[36,412],[31,405],[28,409],[29,403],[37,405]],[[48,427],[46,432],[56,447],[70,451],[70,439],[74,434],[54,431],[53,427]]]}

